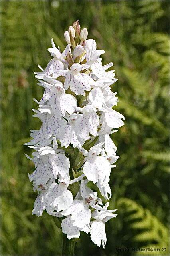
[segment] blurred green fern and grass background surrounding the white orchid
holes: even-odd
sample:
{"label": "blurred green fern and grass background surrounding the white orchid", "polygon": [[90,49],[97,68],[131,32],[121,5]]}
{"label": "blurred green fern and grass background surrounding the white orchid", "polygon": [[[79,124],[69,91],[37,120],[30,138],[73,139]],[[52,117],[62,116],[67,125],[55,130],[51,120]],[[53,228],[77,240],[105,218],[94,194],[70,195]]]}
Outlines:
{"label": "blurred green fern and grass background surrounding the white orchid", "polygon": [[[103,64],[114,62],[116,107],[125,126],[113,134],[117,168],[111,174],[105,250],[89,235],[76,242],[77,256],[169,255],[169,1],[1,1],[1,255],[61,255],[61,231],[45,212],[32,216],[34,170],[23,146],[43,90],[33,72],[50,60],[51,37],[65,47],[63,33],[75,20],[89,30]],[[118,252],[118,247],[160,252]],[[166,252],[162,251],[166,248]]]}

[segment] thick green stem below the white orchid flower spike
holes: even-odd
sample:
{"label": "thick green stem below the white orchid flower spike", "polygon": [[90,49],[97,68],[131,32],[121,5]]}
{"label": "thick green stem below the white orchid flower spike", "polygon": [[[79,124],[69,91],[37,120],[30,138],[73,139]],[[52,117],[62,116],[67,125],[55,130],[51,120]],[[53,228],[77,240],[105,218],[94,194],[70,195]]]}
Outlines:
{"label": "thick green stem below the white orchid flower spike", "polygon": [[67,238],[67,234],[63,234],[63,249],[62,256],[74,256],[75,238],[70,240]]}

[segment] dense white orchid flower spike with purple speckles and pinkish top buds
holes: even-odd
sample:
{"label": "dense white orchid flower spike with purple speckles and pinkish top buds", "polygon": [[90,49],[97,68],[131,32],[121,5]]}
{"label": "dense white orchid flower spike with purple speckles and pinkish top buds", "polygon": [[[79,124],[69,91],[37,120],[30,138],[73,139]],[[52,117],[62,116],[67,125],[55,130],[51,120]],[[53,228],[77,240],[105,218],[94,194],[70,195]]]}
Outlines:
{"label": "dense white orchid flower spike with purple speckles and pinkish top buds", "polygon": [[45,70],[36,72],[38,85],[45,91],[33,116],[42,121],[40,130],[30,130],[28,143],[35,151],[35,171],[28,174],[33,190],[38,191],[32,214],[43,210],[61,218],[67,237],[79,237],[80,231],[90,233],[98,246],[106,244],[105,222],[114,218],[116,210],[102,207],[102,200],[88,182],[98,187],[105,199],[111,198],[109,176],[119,158],[110,135],[124,123],[124,117],[113,110],[117,105],[111,85],[117,81],[113,63],[102,66],[96,42],[87,39],[87,29],[80,30],[74,22],[64,36],[63,52],[48,49],[52,60]]}

